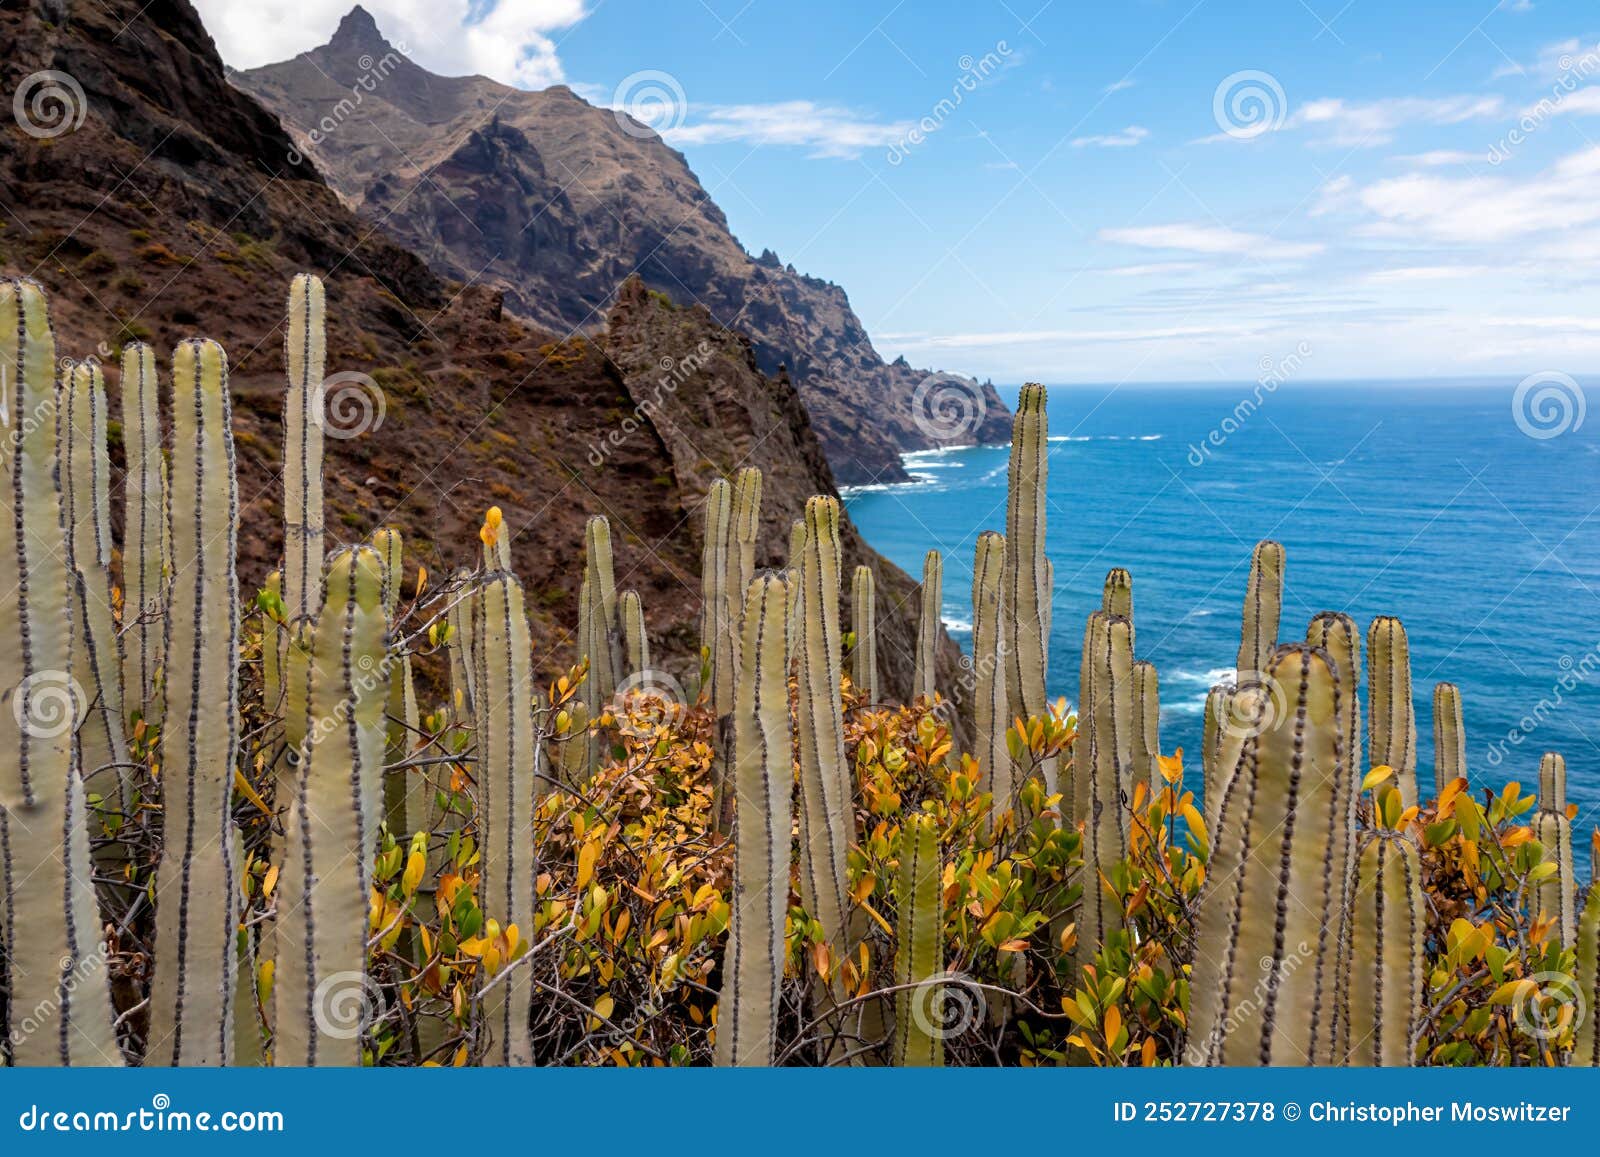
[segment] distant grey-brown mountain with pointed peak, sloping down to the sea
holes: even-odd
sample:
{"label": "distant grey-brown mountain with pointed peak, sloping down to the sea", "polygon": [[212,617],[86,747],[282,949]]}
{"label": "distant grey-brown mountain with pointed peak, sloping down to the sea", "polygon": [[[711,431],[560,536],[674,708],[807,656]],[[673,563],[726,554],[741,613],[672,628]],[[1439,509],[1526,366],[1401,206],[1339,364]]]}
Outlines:
{"label": "distant grey-brown mountain with pointed peak, sloping down to the sea", "polygon": [[322,48],[232,80],[349,205],[536,325],[598,325],[637,274],[747,333],[763,373],[787,368],[845,483],[904,480],[902,450],[1010,437],[990,386],[936,374],[918,394],[930,373],[885,363],[840,286],[750,258],[680,152],[566,86],[437,77],[363,8]]}

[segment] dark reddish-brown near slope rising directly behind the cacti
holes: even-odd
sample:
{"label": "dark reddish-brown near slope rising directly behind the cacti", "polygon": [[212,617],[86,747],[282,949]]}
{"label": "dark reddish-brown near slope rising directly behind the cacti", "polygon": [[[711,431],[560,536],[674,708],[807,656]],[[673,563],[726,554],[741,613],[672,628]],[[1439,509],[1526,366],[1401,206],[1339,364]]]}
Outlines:
{"label": "dark reddish-brown near slope rising directly behind the cacti", "polygon": [[[787,554],[806,496],[835,493],[790,381],[762,373],[750,342],[704,309],[635,280],[594,333],[563,336],[504,312],[490,288],[440,278],[357,218],[277,117],[227,83],[187,0],[70,14],[61,0],[5,0],[0,91],[42,72],[70,78],[54,80],[70,115],[46,134],[26,118],[0,130],[0,269],[46,288],[62,357],[107,363],[112,414],[120,342],[150,341],[162,365],[195,333],[227,347],[246,591],[282,552],[283,310],[299,269],[326,280],[330,374],[365,374],[381,416],[326,442],[328,547],[394,525],[408,574],[445,574],[474,563],[483,510],[501,506],[546,675],[576,659],[590,514],[611,518],[618,583],[640,591],[662,666],[688,683],[712,475],[766,472],[762,565]],[[120,536],[117,493],[112,509]],[[883,682],[902,696],[915,584],[853,526],[843,539],[848,565],[878,574]],[[946,640],[946,687],[958,658]]]}

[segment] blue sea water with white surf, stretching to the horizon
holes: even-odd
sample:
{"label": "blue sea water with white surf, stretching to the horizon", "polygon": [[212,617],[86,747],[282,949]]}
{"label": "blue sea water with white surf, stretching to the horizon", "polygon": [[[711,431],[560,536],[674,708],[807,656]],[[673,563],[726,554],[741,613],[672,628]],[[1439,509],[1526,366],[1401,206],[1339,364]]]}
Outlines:
{"label": "blue sea water with white surf, stretching to the horizon", "polygon": [[[1582,850],[1600,823],[1600,414],[1581,421],[1581,390],[1517,387],[1051,387],[1051,696],[1077,701],[1085,618],[1106,571],[1126,566],[1139,656],[1160,669],[1162,746],[1197,768],[1206,690],[1238,651],[1251,547],[1275,538],[1288,550],[1280,640],[1323,610],[1363,632],[1398,615],[1422,783],[1434,683],[1454,682],[1474,786],[1531,789],[1539,754],[1563,752]],[[909,454],[917,482],[846,494],[867,541],[910,574],[930,547],[944,554],[944,618],[963,648],[976,536],[1005,530],[1006,454]]]}

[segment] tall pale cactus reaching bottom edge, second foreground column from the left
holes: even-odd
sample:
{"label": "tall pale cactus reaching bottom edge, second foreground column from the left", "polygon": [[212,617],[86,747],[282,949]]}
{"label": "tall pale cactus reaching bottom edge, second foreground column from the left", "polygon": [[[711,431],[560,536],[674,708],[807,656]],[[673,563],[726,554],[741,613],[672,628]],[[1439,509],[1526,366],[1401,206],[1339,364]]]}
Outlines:
{"label": "tall pale cactus reaching bottom edge, second foreground column from the left", "polygon": [[230,813],[238,760],[238,490],[227,355],[173,354],[173,586],[162,733],[150,1064],[230,1064],[238,871]]}

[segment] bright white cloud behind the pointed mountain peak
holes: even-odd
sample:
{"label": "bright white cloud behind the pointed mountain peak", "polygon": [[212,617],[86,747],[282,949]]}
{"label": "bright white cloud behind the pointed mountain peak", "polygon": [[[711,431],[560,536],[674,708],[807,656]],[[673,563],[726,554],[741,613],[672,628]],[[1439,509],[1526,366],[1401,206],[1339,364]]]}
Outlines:
{"label": "bright white cloud behind the pointed mountain peak", "polygon": [[[550,34],[586,14],[584,0],[363,0],[384,37],[443,75],[483,74],[520,88],[563,78]],[[235,69],[285,61],[328,43],[352,0],[195,0]]]}

